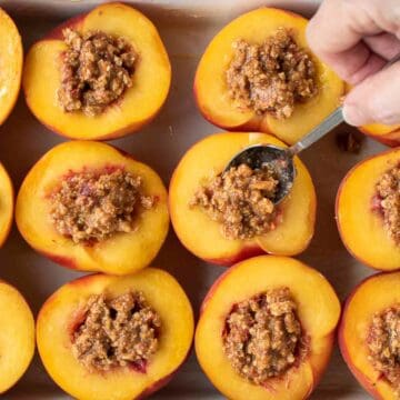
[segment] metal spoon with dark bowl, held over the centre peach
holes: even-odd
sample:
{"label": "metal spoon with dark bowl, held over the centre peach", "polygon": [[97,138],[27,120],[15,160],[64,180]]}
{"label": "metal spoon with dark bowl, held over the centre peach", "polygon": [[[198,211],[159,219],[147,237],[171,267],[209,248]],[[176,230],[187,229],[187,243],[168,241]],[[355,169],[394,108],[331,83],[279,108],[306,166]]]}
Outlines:
{"label": "metal spoon with dark bowl, held over the centre peach", "polygon": [[[393,57],[382,69],[386,69],[400,60],[400,53]],[[320,140],[333,128],[344,122],[343,108],[337,108],[319,126],[311,130],[306,137],[289,148],[281,148],[274,144],[253,144],[239,151],[226,166],[223,173],[232,167],[244,163],[251,169],[270,167],[279,181],[278,190],[271,199],[274,204],[281,202],[290,192],[296,178],[293,157],[300,151],[309,148]]]}

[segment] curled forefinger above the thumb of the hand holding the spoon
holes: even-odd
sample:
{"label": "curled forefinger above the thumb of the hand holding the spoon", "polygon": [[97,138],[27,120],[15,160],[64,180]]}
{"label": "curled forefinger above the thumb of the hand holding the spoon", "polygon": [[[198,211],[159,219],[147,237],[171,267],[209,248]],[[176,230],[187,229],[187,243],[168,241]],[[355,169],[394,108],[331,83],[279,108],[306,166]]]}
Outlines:
{"label": "curled forefinger above the thumb of the hand holding the spoon", "polygon": [[308,41],[318,57],[354,84],[384,62],[361,39],[399,33],[400,18],[393,14],[400,14],[398,0],[326,0],[309,22]]}

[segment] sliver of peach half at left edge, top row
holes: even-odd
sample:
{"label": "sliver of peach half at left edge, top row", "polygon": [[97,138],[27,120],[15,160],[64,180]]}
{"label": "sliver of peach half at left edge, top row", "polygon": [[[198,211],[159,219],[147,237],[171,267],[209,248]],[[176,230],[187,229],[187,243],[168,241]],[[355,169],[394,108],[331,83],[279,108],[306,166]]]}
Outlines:
{"label": "sliver of peach half at left edge, top row", "polygon": [[22,77],[23,50],[20,33],[0,8],[0,124],[13,109]]}

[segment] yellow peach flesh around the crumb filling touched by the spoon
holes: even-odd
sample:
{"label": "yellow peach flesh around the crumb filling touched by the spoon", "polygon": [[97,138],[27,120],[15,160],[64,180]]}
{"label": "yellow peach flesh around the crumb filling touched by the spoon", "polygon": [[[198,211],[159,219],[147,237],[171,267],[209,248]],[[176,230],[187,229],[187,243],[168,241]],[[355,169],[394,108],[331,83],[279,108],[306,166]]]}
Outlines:
{"label": "yellow peach flesh around the crumb filling touched by the spoon", "polygon": [[221,224],[190,201],[204,180],[223,171],[228,161],[241,149],[257,144],[284,144],[267,133],[218,133],[196,143],[181,159],[170,183],[170,214],[182,244],[207,261],[230,266],[264,252],[292,256],[309,244],[316,221],[316,191],[304,164],[294,159],[297,177],[287,199],[279,206],[281,220],[274,230],[250,240],[232,240],[222,236]]}

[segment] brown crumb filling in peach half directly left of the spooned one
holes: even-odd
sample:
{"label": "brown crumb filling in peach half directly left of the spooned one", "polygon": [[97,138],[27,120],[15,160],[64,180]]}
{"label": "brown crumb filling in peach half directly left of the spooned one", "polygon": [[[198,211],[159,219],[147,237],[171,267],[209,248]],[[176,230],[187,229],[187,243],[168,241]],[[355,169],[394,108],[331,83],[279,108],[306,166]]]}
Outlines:
{"label": "brown crumb filling in peach half directly left of the spooned one", "polygon": [[71,173],[50,196],[51,221],[76,243],[132,232],[137,209],[156,203],[156,198],[141,193],[141,177],[122,169]]}

